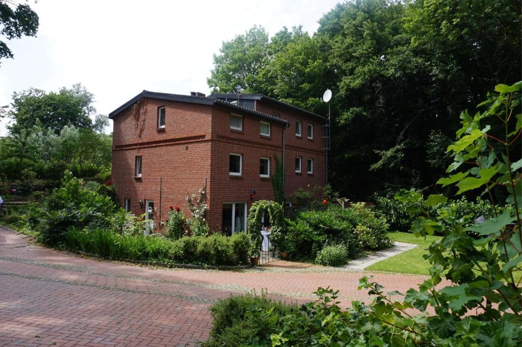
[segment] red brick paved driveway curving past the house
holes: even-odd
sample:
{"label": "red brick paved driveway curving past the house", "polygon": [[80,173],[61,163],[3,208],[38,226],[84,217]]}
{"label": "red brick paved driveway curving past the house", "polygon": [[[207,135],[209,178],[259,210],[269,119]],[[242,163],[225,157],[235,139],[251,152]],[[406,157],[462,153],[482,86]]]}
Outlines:
{"label": "red brick paved driveway curving past the house", "polygon": [[[208,307],[265,288],[286,302],[314,300],[318,286],[340,290],[341,306],[367,300],[365,272],[157,269],[85,259],[35,246],[0,226],[0,346],[185,346],[208,337]],[[374,274],[406,291],[422,276]]]}

